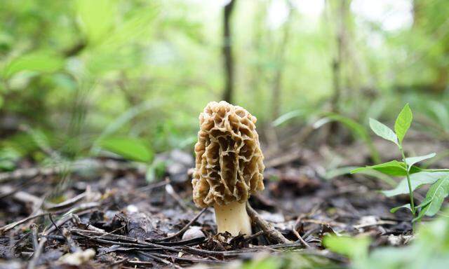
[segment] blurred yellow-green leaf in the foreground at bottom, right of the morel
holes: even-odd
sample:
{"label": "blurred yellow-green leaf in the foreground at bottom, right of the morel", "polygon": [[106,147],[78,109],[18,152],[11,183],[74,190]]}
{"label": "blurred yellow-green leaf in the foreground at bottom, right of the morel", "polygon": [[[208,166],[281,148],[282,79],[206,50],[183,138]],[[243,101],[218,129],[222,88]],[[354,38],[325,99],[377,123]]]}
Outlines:
{"label": "blurred yellow-green leaf in the foreground at bottom, right of the morel", "polygon": [[338,254],[348,256],[351,259],[366,258],[368,256],[368,247],[370,247],[370,237],[347,237],[328,235],[323,238],[323,244],[326,248]]}

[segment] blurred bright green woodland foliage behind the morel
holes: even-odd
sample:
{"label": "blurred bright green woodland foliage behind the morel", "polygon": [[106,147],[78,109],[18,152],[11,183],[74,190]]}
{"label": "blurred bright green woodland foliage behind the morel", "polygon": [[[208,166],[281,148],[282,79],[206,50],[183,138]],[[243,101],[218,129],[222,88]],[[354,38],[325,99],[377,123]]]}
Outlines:
{"label": "blurred bright green woodland foliage behind the morel", "polygon": [[5,0],[0,18],[3,170],[117,145],[145,162],[190,149],[229,83],[261,130],[328,117],[370,145],[368,116],[410,102],[449,137],[445,0]]}

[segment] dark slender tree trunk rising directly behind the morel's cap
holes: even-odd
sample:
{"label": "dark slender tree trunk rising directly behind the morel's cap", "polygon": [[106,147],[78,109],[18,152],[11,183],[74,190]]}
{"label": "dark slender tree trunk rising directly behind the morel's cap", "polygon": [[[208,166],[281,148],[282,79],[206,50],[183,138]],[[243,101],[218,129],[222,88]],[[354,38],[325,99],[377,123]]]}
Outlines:
{"label": "dark slender tree trunk rising directly behind the morel's cap", "polygon": [[234,58],[232,56],[231,15],[236,0],[231,0],[224,8],[223,16],[223,63],[225,67],[225,89],[223,100],[232,102],[234,92]]}

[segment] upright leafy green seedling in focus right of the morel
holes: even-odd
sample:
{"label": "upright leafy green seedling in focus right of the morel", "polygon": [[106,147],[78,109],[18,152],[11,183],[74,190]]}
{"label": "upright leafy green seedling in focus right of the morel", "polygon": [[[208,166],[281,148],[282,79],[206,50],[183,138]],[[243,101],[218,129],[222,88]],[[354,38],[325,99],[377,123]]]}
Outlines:
{"label": "upright leafy green seedling in focus right of the morel", "polygon": [[[403,107],[401,113],[399,113],[396,118],[396,122],[394,123],[394,131],[387,125],[370,118],[371,130],[383,139],[387,139],[396,144],[398,150],[401,152],[401,161],[391,160],[387,163],[381,163],[378,165],[359,167],[351,170],[351,173],[376,170],[394,177],[405,176],[406,178],[403,179],[403,181],[401,181],[396,188],[390,191],[384,191],[383,193],[387,196],[408,193],[410,196],[410,203],[399,207],[394,207],[391,209],[391,212],[394,213],[401,208],[409,209],[414,216],[413,222],[416,222],[420,221],[424,215],[434,216],[441,208],[444,198],[449,195],[449,170],[424,169],[416,166],[416,164],[422,160],[427,160],[436,156],[435,153],[430,153],[425,156],[406,157],[403,150],[403,139],[406,137],[412,120],[413,113],[408,104]],[[432,186],[429,188],[429,191],[427,191],[426,198],[422,201],[422,203],[415,206],[413,191],[420,188],[420,186],[423,186],[424,184],[432,184]]]}

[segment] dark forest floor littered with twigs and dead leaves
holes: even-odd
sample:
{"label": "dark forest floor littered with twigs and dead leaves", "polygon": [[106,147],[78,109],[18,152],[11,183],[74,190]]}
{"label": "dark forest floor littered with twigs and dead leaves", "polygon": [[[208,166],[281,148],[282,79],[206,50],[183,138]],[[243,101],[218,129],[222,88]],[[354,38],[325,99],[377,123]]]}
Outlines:
{"label": "dark forest floor littered with twigs and dead leaves", "polygon": [[[388,149],[380,141],[376,146]],[[424,146],[429,147],[438,145]],[[201,210],[192,202],[189,153],[157,156],[166,171],[152,183],[144,167],[114,158],[47,168],[23,160],[18,170],[0,173],[0,268],[220,267],[229,262],[237,267],[248,259],[292,253],[307,257],[309,264],[344,267],[346,258],[322,246],[324,235],[368,234],[375,238],[371,248],[406,244],[413,237],[411,216],[389,209],[408,197],[386,198],[377,190],[391,187],[379,179],[342,175],[330,180],[323,170],[326,156],[340,156],[339,166],[368,162],[363,145],[316,150],[293,145],[270,153],[265,190],[249,201],[264,223],[253,223],[253,236],[227,242],[215,236],[213,209]],[[288,242],[267,234],[261,228],[266,222]]]}

